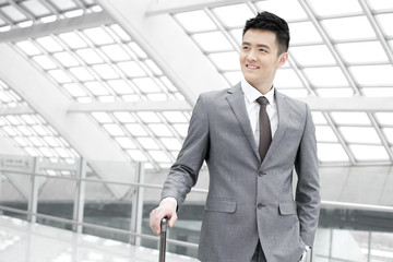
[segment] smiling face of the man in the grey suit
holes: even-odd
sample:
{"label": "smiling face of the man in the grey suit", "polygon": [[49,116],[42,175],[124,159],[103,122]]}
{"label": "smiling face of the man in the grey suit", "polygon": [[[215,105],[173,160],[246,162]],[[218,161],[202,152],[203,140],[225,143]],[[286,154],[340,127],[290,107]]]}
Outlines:
{"label": "smiling face of the man in the grey suit", "polygon": [[[248,29],[242,38],[240,67],[245,79],[259,88],[272,84],[277,69],[288,58],[287,52],[279,56],[276,35],[265,29]],[[271,86],[269,86],[270,88]]]}

